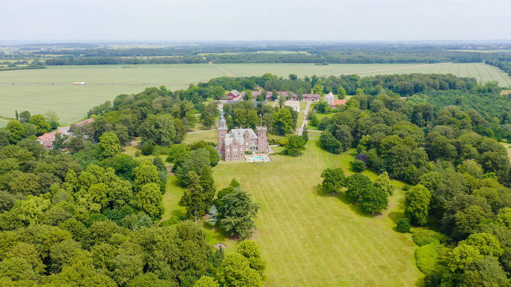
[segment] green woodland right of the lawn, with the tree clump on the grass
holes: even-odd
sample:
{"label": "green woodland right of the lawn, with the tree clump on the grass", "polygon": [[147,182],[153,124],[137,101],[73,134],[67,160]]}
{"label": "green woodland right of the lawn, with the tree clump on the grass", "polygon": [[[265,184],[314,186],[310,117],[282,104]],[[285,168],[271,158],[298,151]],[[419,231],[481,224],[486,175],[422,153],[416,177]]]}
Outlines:
{"label": "green woodland right of the lawn, with the tree clump on the grass", "polygon": [[[388,79],[412,84],[421,77]],[[365,93],[359,79],[319,80],[323,87],[336,81],[353,81],[357,92],[319,121],[324,129],[320,145],[332,153],[355,148],[353,170],[367,166],[380,176],[371,182],[359,173],[345,177],[341,169],[327,169],[320,187],[343,191],[372,213],[387,207],[391,192],[383,192],[383,186],[389,186],[388,177],[404,180],[409,184],[404,188],[405,217],[397,230],[429,226],[441,232],[413,230],[419,246],[415,261],[426,274],[425,285],[509,285],[511,165],[498,142],[511,140],[508,97],[500,95],[494,82],[480,85],[469,79],[453,79],[448,90],[432,86],[405,99],[375,78],[365,82],[380,85],[369,86],[374,94]]]}

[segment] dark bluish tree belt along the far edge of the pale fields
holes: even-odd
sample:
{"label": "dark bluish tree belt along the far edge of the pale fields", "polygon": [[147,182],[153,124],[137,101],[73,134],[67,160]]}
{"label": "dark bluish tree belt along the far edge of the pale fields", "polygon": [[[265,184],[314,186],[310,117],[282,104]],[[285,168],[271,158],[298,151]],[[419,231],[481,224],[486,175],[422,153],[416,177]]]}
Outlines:
{"label": "dark bluish tree belt along the far edge of the pale fields", "polygon": [[[71,52],[71,51],[69,51]],[[59,56],[47,59],[48,65],[99,65],[99,64],[171,64],[171,63],[321,63],[321,64],[388,64],[388,63],[440,63],[440,62],[482,62],[484,60],[511,60],[511,53],[479,53],[479,52],[451,52],[438,48],[404,47],[402,49],[353,49],[353,50],[306,50],[305,53],[237,53],[215,54],[194,52],[191,55],[168,55],[167,57],[150,56],[143,58],[136,56],[140,51],[132,51],[126,56],[117,56],[117,53],[107,51],[92,51],[84,55]],[[101,56],[110,54],[112,56]],[[120,53],[129,55],[126,51]],[[174,54],[155,53],[158,54]],[[178,54],[182,54],[179,52]],[[140,57],[140,58],[137,58]]]}

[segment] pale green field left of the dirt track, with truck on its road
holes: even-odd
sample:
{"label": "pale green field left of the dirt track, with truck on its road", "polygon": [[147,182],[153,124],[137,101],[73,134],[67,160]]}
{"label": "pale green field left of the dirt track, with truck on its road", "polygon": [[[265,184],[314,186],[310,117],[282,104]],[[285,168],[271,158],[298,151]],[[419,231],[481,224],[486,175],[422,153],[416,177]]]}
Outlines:
{"label": "pale green field left of the dirt track, with truck on its road", "polygon": [[122,93],[161,84],[177,90],[224,75],[209,64],[50,66],[1,73],[0,84],[24,85],[0,85],[0,116],[14,117],[15,110],[32,114],[50,110],[57,112],[61,124],[78,121],[91,107]]}

